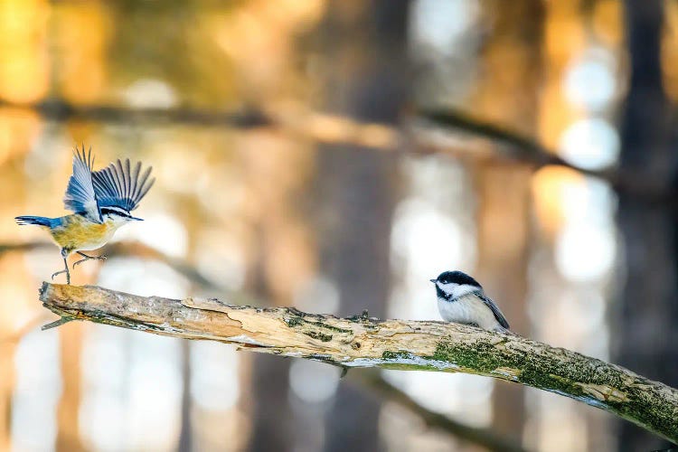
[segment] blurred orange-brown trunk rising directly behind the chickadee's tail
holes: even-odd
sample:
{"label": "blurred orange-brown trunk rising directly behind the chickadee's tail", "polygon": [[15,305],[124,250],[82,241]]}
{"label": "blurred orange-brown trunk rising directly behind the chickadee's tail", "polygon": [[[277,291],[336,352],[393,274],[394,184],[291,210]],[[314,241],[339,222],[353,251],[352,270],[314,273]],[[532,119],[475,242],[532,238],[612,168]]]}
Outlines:
{"label": "blurred orange-brown trunk rising directly behind the chickadee's tail", "polygon": [[[482,85],[474,114],[527,136],[537,129],[541,85],[541,42],[545,19],[540,0],[485,2],[491,30],[482,54]],[[478,275],[495,297],[513,331],[528,335],[527,266],[530,237],[530,183],[525,165],[484,165],[477,172],[479,212]],[[508,234],[508,235],[507,235]],[[520,442],[525,423],[524,391],[494,386],[493,426]]]}

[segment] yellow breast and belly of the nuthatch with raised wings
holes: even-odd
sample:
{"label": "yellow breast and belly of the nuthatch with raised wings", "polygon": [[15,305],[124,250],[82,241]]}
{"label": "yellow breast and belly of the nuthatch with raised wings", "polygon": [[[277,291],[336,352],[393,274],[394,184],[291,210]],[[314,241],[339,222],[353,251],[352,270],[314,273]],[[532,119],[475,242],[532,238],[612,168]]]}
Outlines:
{"label": "yellow breast and belly of the nuthatch with raised wings", "polygon": [[89,221],[82,215],[62,217],[61,225],[52,228],[52,239],[69,253],[78,250],[97,250],[104,246],[118,226],[107,220],[103,223]]}

